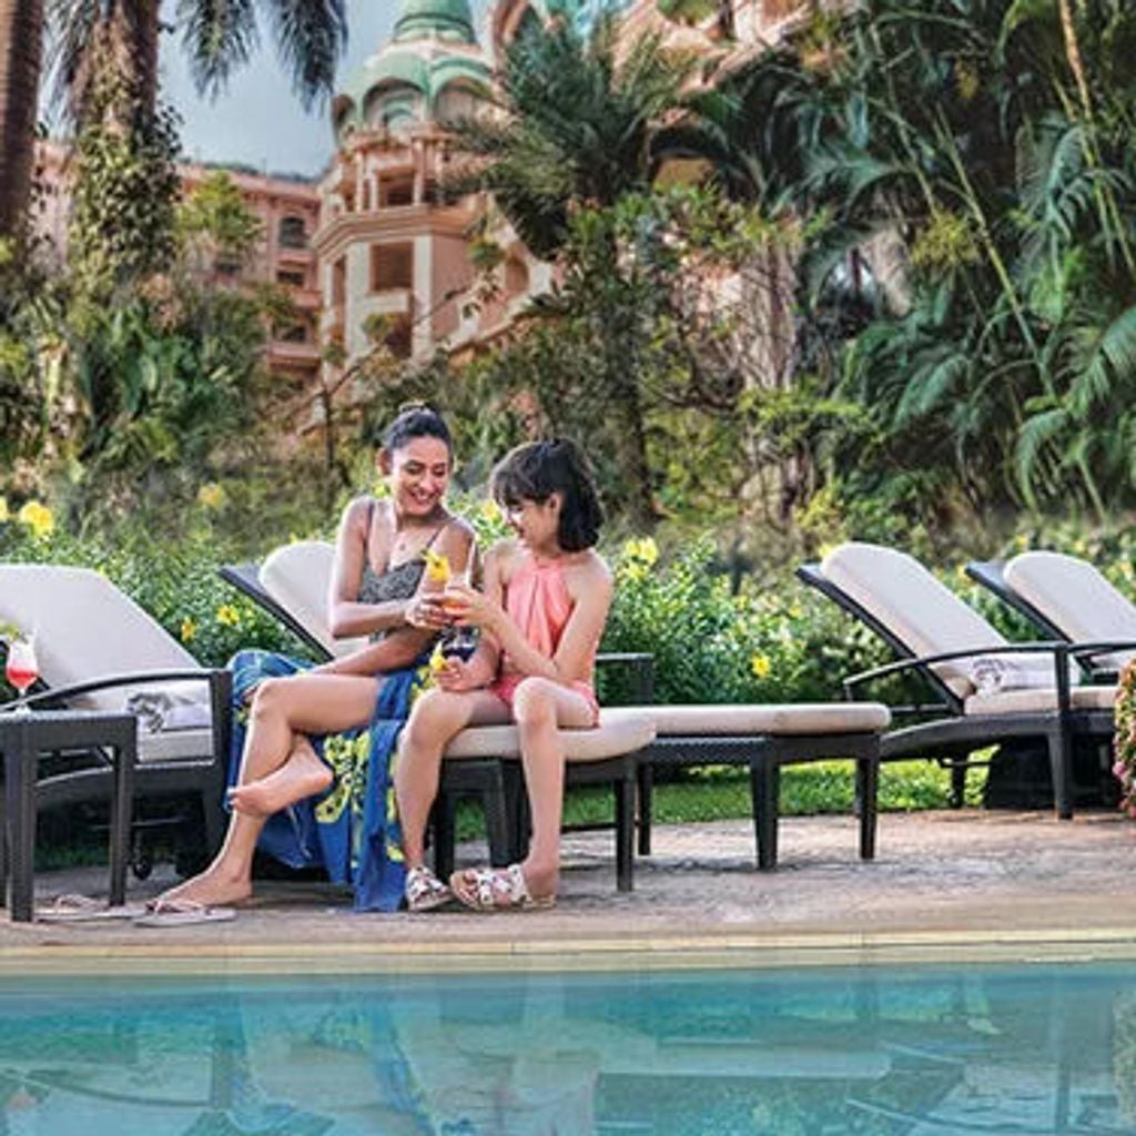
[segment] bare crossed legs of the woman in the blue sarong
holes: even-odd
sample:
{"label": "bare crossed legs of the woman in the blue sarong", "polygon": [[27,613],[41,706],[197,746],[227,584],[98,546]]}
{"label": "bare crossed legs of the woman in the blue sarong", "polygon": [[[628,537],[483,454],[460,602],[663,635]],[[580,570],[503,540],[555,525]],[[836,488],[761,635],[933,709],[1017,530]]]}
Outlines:
{"label": "bare crossed legs of the woman in the blue sarong", "polygon": [[[311,768],[316,758],[306,734],[332,734],[360,726],[370,718],[378,696],[378,679],[353,675],[295,675],[260,684],[252,700],[249,733],[245,737],[241,785],[231,796],[234,808],[252,782],[272,778],[282,767],[299,762],[298,777],[269,785],[248,802],[248,811],[237,809],[229,819],[225,843],[203,872],[162,893],[164,900],[197,903],[236,903],[252,894],[252,853],[270,812],[254,803],[275,801],[285,808],[311,795],[303,790],[319,777]],[[275,746],[278,746],[276,749]],[[327,787],[327,780],[316,792]]]}

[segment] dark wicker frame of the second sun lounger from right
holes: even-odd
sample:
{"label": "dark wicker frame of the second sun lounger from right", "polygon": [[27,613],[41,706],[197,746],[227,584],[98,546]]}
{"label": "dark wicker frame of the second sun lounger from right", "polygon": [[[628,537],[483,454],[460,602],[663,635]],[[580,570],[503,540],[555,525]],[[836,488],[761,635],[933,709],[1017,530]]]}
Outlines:
{"label": "dark wicker frame of the second sun lounger from right", "polygon": [[[797,577],[828,596],[864,626],[875,632],[899,657],[897,662],[852,675],[844,679],[844,693],[854,699],[869,683],[892,676],[914,675],[932,690],[937,701],[892,708],[896,718],[922,716],[924,720],[901,726],[885,734],[880,743],[883,761],[900,761],[926,757],[951,770],[952,803],[962,804],[967,771],[988,765],[971,760],[969,754],[987,745],[1011,740],[1036,738],[1045,743],[1053,777],[1053,802],[1062,820],[1072,817],[1072,743],[1076,737],[1094,741],[1111,738],[1111,710],[1079,710],[1070,704],[1069,661],[1089,663],[1096,654],[1131,648],[1133,643],[1067,643],[1044,641],[1011,643],[997,648],[984,646],[943,654],[917,655],[891,628],[857,603],[843,588],[832,583],[819,565],[802,565]],[[1025,654],[1046,652],[1053,655],[1056,707],[1053,710],[1024,713],[964,715],[963,702],[933,669],[935,663],[991,654]]]}

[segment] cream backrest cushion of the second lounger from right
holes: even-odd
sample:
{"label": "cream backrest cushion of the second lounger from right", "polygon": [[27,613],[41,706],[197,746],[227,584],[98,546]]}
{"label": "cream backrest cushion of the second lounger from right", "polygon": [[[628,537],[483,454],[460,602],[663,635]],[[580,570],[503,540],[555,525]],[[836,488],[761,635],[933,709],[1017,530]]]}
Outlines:
{"label": "cream backrest cushion of the second lounger from right", "polygon": [[[1006,642],[905,552],[853,541],[829,552],[821,571],[916,655],[997,648]],[[972,663],[961,659],[933,669],[955,695],[967,698],[975,691]]]}

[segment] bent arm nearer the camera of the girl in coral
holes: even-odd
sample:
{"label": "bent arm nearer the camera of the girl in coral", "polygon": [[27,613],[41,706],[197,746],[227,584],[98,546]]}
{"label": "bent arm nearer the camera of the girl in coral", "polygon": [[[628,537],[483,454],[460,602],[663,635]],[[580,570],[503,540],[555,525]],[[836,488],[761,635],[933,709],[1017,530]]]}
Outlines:
{"label": "bent arm nearer the camera of the girl in coral", "polygon": [[488,633],[521,674],[565,684],[586,682],[591,677],[592,660],[608,619],[611,593],[611,573],[593,553],[578,570],[573,587],[576,603],[551,659],[525,638],[521,629],[509,618],[500,598],[491,600],[486,593],[484,598],[473,600],[465,618],[482,627],[483,638]]}

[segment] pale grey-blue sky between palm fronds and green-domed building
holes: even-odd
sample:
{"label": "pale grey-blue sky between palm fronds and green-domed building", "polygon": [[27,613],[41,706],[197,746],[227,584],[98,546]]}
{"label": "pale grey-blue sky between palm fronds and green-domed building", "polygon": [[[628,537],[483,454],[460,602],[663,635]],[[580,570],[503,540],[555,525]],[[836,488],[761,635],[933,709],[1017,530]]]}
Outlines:
{"label": "pale grey-blue sky between palm fronds and green-domed building", "polygon": [[[484,0],[474,0],[473,9],[484,45]],[[340,64],[341,82],[389,39],[398,10],[396,0],[348,0],[348,51]],[[191,161],[242,162],[315,177],[332,156],[329,103],[304,112],[276,59],[267,24],[261,28],[259,53],[215,102],[198,97],[178,37],[167,33],[161,39],[161,89],[183,117],[182,147]]]}

